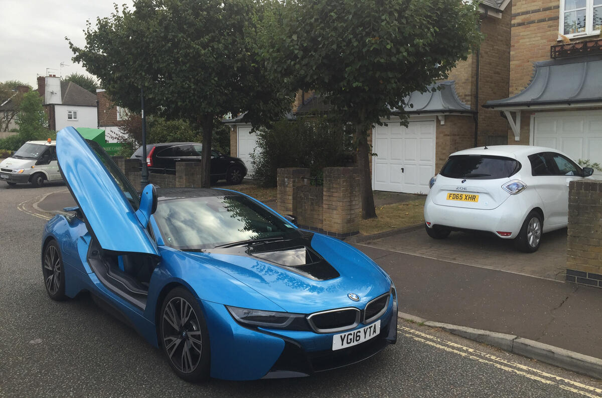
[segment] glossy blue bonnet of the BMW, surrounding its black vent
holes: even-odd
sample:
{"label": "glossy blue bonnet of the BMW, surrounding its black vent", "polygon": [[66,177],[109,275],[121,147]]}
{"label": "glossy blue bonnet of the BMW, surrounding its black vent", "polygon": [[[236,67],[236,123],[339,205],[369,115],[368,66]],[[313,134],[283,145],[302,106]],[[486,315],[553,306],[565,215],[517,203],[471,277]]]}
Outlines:
{"label": "glossy blue bonnet of the BMW, surrounding its black vent", "polygon": [[[275,260],[280,263],[259,258],[247,248],[214,249],[187,255],[211,263],[290,313],[364,308],[368,301],[389,291],[391,279],[360,251],[338,239],[309,235],[306,248],[322,257],[327,264],[321,266],[332,267],[334,273],[328,271],[324,277],[315,277],[297,272],[295,267],[283,266],[278,258]],[[290,246],[299,248],[299,242],[291,242]],[[352,301],[347,296],[349,293],[358,295],[359,301]]]}

